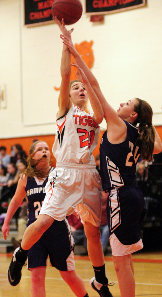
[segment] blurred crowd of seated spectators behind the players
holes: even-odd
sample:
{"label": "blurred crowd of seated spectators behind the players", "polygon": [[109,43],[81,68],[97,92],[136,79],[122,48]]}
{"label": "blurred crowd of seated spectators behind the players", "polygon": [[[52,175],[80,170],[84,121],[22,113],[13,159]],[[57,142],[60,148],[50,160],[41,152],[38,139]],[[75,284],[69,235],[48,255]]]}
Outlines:
{"label": "blurred crowd of seated spectators behind the players", "polygon": [[[37,139],[36,139],[37,140]],[[34,139],[33,142],[36,141]],[[20,144],[15,144],[11,147],[11,154],[6,153],[6,147],[0,147],[0,215],[7,212],[10,200],[15,194],[17,182],[22,173],[27,168],[27,154]],[[96,156],[96,169],[100,174],[100,155]],[[154,155],[153,162],[140,160],[137,163],[136,182],[143,191],[147,212],[149,203],[158,204],[159,211],[162,208],[161,193],[162,193],[162,153]],[[108,254],[109,230],[106,214],[106,202],[108,194],[102,191],[102,219],[101,219],[101,242],[104,254]],[[159,200],[157,200],[159,197]],[[157,207],[156,207],[157,208]],[[19,236],[17,239],[12,238],[14,248],[20,245],[25,232],[27,222],[28,202],[24,200],[21,209],[17,211],[16,222]],[[151,214],[154,216],[154,213]],[[83,224],[80,218],[76,218],[73,214],[68,217],[75,243],[84,246],[84,252],[81,255],[88,255],[87,240],[84,232]]]}

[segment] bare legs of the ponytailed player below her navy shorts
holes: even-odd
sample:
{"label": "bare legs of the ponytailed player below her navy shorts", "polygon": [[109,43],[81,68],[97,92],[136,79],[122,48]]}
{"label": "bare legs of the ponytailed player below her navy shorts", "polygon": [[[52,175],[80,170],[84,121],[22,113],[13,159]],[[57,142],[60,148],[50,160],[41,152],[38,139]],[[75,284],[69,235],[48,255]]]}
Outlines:
{"label": "bare legs of the ponytailed player below her navy shorts", "polygon": [[131,254],[113,256],[121,297],[135,297],[134,268]]}

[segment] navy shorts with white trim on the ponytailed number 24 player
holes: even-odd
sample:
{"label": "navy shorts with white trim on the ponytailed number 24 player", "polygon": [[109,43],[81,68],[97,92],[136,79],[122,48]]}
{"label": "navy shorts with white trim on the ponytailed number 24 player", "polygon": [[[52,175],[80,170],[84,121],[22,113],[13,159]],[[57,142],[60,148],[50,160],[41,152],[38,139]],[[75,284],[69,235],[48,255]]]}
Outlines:
{"label": "navy shorts with white trim on the ponytailed number 24 player", "polygon": [[107,216],[110,245],[114,256],[142,249],[139,231],[146,211],[145,199],[138,185],[110,191]]}

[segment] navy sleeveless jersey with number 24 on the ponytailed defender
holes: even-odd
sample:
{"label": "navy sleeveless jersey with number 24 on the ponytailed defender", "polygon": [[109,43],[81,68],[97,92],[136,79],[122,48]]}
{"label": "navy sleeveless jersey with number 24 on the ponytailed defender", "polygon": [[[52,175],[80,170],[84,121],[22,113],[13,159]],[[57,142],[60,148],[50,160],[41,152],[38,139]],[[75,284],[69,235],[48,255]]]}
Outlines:
{"label": "navy sleeveless jersey with number 24 on the ponytailed defender", "polygon": [[112,144],[107,131],[100,144],[100,166],[103,190],[130,186],[134,183],[136,164],[141,153],[138,128],[126,122],[127,137],[124,142]]}

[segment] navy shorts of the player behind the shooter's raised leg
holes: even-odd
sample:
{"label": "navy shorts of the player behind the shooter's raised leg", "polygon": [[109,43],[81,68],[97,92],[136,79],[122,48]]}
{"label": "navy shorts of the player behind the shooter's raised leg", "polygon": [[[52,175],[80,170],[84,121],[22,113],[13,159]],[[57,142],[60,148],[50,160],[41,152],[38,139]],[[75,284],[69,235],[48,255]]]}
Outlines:
{"label": "navy shorts of the player behind the shooter's raised leg", "polygon": [[47,257],[51,265],[60,271],[75,269],[74,240],[67,219],[54,220],[48,230],[44,232],[28,252],[27,268],[46,266]]}

